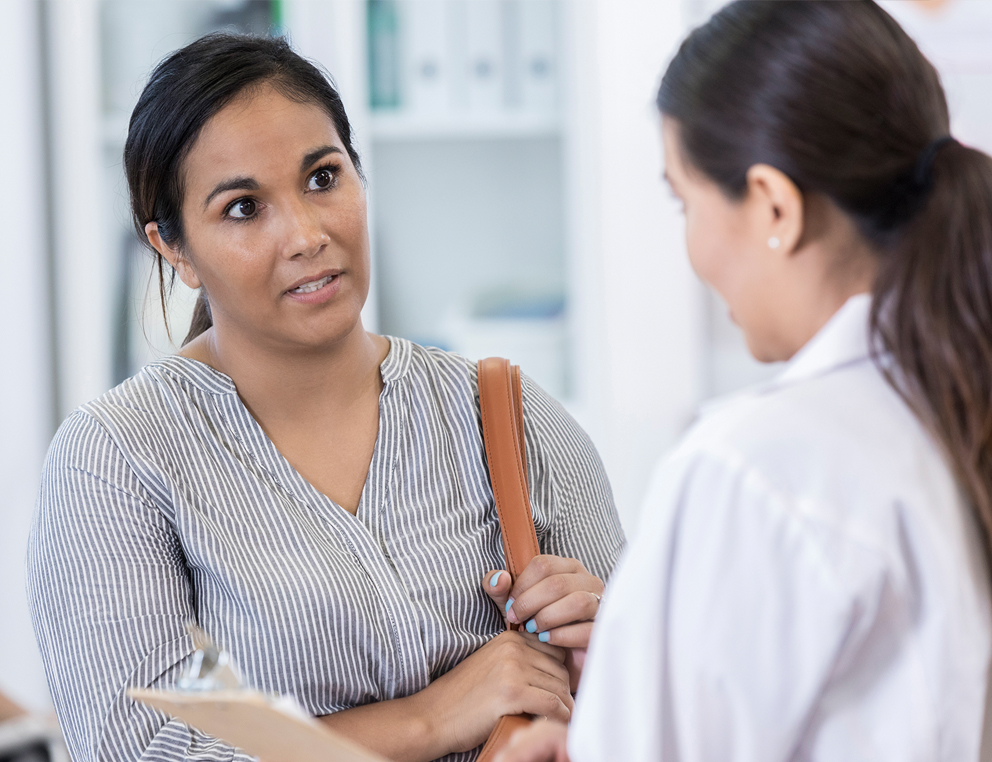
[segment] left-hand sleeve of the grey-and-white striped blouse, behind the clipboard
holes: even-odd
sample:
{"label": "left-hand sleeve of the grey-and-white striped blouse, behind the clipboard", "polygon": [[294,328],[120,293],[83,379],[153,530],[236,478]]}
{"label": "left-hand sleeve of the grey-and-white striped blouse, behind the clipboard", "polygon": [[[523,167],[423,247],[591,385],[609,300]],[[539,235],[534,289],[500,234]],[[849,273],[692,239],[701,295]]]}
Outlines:
{"label": "left-hand sleeve of the grey-and-white striped blouse, behind the clipboard", "polygon": [[126,695],[174,683],[193,650],[193,596],[171,525],[85,412],[66,420],[48,452],[28,597],[76,762],[251,759]]}

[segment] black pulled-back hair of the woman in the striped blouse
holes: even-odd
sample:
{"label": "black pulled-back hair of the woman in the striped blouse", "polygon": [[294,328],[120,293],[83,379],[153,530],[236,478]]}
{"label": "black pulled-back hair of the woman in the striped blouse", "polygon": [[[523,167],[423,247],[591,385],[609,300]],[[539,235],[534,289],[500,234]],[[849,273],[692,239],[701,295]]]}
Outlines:
{"label": "black pulled-back hair of the woman in the striped blouse", "polygon": [[[351,124],[330,77],[296,53],[282,38],[215,33],[172,53],[152,72],[131,114],[124,145],[124,170],[138,239],[147,243],[145,225],[158,223],[162,240],[180,251],[186,244],[182,202],[184,162],[200,131],[214,114],[238,96],[271,85],[299,103],[324,109],[361,174]],[[162,314],[166,315],[163,257],[155,252]],[[169,285],[175,281],[175,271]],[[168,318],[166,317],[168,326]],[[190,342],[212,325],[206,294],[200,291]]]}

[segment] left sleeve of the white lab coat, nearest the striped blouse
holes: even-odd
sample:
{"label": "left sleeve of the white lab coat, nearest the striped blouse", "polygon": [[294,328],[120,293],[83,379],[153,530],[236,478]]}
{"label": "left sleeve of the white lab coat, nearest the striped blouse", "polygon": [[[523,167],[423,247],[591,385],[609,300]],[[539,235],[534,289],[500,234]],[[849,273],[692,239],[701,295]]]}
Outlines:
{"label": "left sleeve of the white lab coat, nearest the striped blouse", "polygon": [[572,760],[801,756],[817,700],[896,605],[829,513],[732,456],[661,469],[597,617]]}

